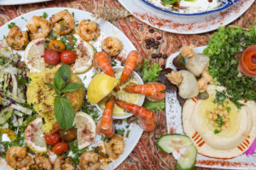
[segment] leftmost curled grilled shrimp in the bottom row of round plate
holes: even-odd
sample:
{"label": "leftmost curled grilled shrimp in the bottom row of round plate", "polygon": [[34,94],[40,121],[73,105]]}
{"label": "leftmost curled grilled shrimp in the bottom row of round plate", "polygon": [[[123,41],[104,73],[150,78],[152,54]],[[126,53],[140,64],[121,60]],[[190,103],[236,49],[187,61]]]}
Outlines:
{"label": "leftmost curled grilled shrimp in the bottom row of round plate", "polygon": [[32,161],[31,156],[27,156],[26,148],[12,146],[6,153],[6,162],[10,167],[20,169],[26,167]]}

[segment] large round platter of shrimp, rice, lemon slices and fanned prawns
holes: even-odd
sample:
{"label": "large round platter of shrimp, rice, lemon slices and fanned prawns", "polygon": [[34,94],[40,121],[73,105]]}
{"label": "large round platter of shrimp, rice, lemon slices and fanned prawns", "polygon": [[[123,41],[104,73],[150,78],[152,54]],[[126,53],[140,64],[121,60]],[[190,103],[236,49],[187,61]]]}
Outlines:
{"label": "large round platter of shrimp, rice, lemon slices and fanned prawns", "polygon": [[0,30],[0,169],[114,169],[154,130],[160,66],[108,21],[44,8]]}

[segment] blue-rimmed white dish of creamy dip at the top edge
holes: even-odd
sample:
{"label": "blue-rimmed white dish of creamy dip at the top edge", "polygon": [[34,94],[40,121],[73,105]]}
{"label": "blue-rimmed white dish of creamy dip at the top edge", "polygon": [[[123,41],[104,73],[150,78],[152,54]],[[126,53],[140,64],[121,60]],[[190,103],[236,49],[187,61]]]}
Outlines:
{"label": "blue-rimmed white dish of creamy dip at the top edge", "polygon": [[[160,0],[141,0],[143,3],[148,4],[149,6],[156,8],[162,12],[168,14],[176,14],[176,15],[187,15],[187,16],[195,16],[195,15],[205,15],[220,12],[226,8],[229,8],[232,4],[236,3],[239,0],[223,0],[223,2],[217,3],[214,2],[206,3],[205,5],[198,5],[201,1],[195,1],[194,3],[190,2],[181,2],[182,4],[186,4],[186,8],[172,8],[172,6],[164,6],[160,2]],[[189,7],[189,5],[193,5],[193,7]]]}

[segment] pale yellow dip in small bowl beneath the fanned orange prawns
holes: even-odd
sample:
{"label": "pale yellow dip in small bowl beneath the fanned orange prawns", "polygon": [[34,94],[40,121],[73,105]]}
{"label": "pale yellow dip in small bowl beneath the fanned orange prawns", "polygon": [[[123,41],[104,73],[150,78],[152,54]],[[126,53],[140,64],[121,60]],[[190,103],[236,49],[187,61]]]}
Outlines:
{"label": "pale yellow dip in small bowl beneath the fanned orange prawns", "polygon": [[[121,74],[122,74],[122,71],[117,71],[117,72],[115,72],[115,77],[120,78]],[[129,94],[129,93],[125,92],[125,90],[123,90],[123,88],[125,88],[125,86],[130,85],[130,84],[138,84],[136,77],[134,77],[132,74],[129,77],[129,79],[122,86],[119,87],[120,89],[118,92],[115,92],[113,90],[110,94],[108,94],[107,97],[105,97],[104,99],[102,99],[99,102],[98,105],[102,108],[102,111],[105,108],[106,102],[112,95],[115,96],[116,99],[121,99],[125,102],[138,105],[141,100],[142,94]],[[127,112],[124,109],[122,109],[118,105],[114,104],[113,116],[124,116],[126,114],[127,114]]]}

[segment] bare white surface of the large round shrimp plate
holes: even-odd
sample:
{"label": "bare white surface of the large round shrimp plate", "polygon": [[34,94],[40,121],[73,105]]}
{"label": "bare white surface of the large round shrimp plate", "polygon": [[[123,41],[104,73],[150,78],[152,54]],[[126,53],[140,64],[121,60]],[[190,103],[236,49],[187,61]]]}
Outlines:
{"label": "bare white surface of the large round shrimp plate", "polygon": [[[6,36],[8,34],[8,32],[9,32],[8,25],[10,22],[15,22],[16,26],[19,26],[21,30],[26,30],[26,20],[30,20],[33,15],[42,15],[45,12],[50,17],[52,14],[56,14],[57,12],[64,10],[64,9],[67,9],[70,13],[74,13],[75,21],[80,22],[81,20],[84,20],[84,19],[96,21],[96,23],[99,25],[99,28],[101,29],[101,36],[97,38],[96,42],[91,42],[91,43],[94,45],[94,47],[98,51],[102,50],[101,42],[102,42],[102,39],[104,39],[105,37],[118,37],[119,38],[119,40],[122,42],[122,45],[123,45],[123,49],[122,49],[121,53],[119,54],[120,57],[122,57],[122,56],[126,57],[127,54],[131,50],[136,49],[133,46],[133,44],[130,42],[130,40],[125,36],[125,34],[122,33],[121,31],[119,31],[119,29],[117,27],[113,26],[110,22],[108,22],[106,20],[95,20],[94,18],[91,17],[90,13],[79,10],[79,9],[75,9],[75,8],[44,8],[44,9],[32,11],[27,14],[22,14],[19,17],[15,18],[14,20],[10,20],[7,24],[1,26],[0,39],[3,39],[3,36]],[[23,17],[26,20],[21,19],[21,17]],[[47,20],[49,20],[49,17],[47,18]],[[76,24],[79,22],[76,22]],[[23,54],[23,53],[19,52],[19,54]],[[86,72],[85,74],[79,75],[79,77],[83,80],[86,88],[88,87],[91,77],[94,75],[94,73],[95,73],[94,69],[90,69],[90,71]],[[86,77],[86,78],[84,78],[84,77]],[[125,122],[124,122],[121,126],[116,125],[116,127],[119,129],[119,128],[125,127],[126,125],[127,124],[125,124]],[[119,164],[121,164],[123,161],[125,161],[126,157],[130,155],[131,151],[136,146],[138,140],[142,136],[143,129],[141,127],[139,127],[137,124],[131,123],[129,130],[131,130],[131,132],[129,134],[129,138],[125,138],[124,153],[121,156],[119,156],[119,159],[112,161],[104,169],[113,170],[114,168],[118,167]],[[125,136],[125,134],[124,134],[124,136]],[[96,146],[99,143],[102,143],[101,136],[96,135],[96,139],[95,139],[94,143],[91,144],[91,146]],[[2,170],[2,169],[12,169],[12,168],[10,168],[9,166],[6,166],[6,162],[1,158],[0,159],[0,169]]]}

